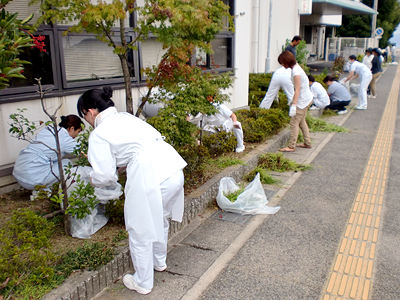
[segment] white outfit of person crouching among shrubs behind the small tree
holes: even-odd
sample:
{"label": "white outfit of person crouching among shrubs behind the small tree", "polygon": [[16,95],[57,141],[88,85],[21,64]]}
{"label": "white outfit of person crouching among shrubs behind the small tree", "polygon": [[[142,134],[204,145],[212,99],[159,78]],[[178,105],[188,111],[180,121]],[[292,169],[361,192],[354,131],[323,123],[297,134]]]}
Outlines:
{"label": "white outfit of person crouching among shrubs behind the small tree", "polygon": [[237,124],[239,124],[240,128],[236,128],[233,126],[233,121],[231,119],[231,115],[233,114],[232,110],[230,110],[226,105],[224,104],[216,104],[212,103],[214,107],[218,110],[218,112],[214,115],[206,115],[203,118],[203,129],[206,131],[211,131],[211,132],[216,132],[214,129],[217,126],[222,126],[223,129],[227,132],[233,131],[233,134],[236,137],[237,140],[237,145],[236,148],[241,148],[243,147],[243,129],[242,129],[242,124],[237,121]]}

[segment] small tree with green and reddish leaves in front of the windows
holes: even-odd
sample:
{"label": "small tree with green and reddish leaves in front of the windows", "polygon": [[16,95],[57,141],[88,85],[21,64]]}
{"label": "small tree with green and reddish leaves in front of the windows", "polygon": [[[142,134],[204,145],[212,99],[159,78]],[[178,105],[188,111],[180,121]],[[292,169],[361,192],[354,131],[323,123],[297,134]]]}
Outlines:
{"label": "small tree with green and reddish leaves in front of the windows", "polygon": [[[33,2],[38,0],[33,0]],[[99,1],[97,4],[90,0],[44,0],[41,4],[42,22],[75,21],[69,31],[86,31],[114,48],[114,53],[121,61],[124,74],[126,108],[133,113],[132,86],[128,68],[128,52],[137,50],[136,42],[143,40],[149,33],[154,34],[157,40],[167,49],[162,61],[149,70],[151,79],[147,84],[149,92],[143,97],[136,115],[139,115],[151,95],[155,86],[162,87],[168,81],[175,81],[188,74],[186,68],[189,57],[195,47],[211,53],[209,42],[221,31],[224,17],[228,18],[229,7],[221,1],[215,0],[145,0],[144,6],[139,7],[136,0],[114,0],[112,3]],[[128,42],[125,35],[125,20],[134,11],[138,11],[139,19],[136,38]],[[118,24],[120,42],[114,37],[114,29]],[[177,71],[177,72],[176,72]]]}

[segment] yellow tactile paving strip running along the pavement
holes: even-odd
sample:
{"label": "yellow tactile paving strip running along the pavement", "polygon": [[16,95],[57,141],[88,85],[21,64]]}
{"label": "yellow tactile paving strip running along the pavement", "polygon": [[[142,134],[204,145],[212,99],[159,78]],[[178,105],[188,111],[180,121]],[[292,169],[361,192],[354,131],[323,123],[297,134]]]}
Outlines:
{"label": "yellow tactile paving strip running along the pavement", "polygon": [[397,69],[365,173],[360,180],[360,188],[344,227],[321,300],[368,300],[371,295],[399,86],[400,68]]}

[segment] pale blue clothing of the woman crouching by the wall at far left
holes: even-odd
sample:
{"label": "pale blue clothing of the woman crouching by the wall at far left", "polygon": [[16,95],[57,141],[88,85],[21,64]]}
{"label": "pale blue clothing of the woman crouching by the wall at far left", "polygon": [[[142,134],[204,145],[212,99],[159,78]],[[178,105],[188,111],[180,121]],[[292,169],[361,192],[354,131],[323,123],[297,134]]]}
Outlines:
{"label": "pale blue clothing of the woman crouching by the wall at far left", "polygon": [[[52,171],[58,176],[57,154],[43,144],[56,149],[56,140],[51,127],[43,128],[27,148],[23,149],[14,165],[13,175],[18,183],[25,189],[33,190],[36,185],[49,186],[58,180],[52,174]],[[65,156],[74,151],[77,142],[69,135],[65,128],[60,127],[58,136],[61,145],[61,155]],[[65,167],[70,163],[69,159],[63,159],[62,165]]]}

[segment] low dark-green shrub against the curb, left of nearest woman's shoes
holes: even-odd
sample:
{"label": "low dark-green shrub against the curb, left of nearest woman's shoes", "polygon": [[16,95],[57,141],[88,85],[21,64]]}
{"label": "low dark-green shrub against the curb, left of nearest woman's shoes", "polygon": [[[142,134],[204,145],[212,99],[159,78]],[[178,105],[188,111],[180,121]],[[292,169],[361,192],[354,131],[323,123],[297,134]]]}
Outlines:
{"label": "low dark-green shrub against the curb, left of nearest woman's shoes", "polygon": [[75,251],[68,251],[56,267],[58,272],[68,277],[74,270],[96,270],[114,258],[112,248],[102,243],[85,243]]}

